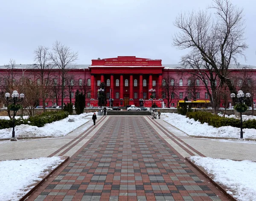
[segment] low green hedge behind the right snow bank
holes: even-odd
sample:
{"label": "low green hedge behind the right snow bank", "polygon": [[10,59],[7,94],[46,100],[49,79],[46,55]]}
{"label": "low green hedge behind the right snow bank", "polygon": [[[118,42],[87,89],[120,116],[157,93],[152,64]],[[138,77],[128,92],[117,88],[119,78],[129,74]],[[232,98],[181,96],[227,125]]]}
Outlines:
{"label": "low green hedge behind the right snow bank", "polygon": [[[208,123],[213,127],[221,127],[221,126],[232,126],[232,127],[240,127],[240,119],[235,118],[226,118],[223,116],[214,115],[209,112],[204,111],[196,111],[189,112],[186,114],[189,119],[195,119],[195,121],[199,121],[202,124]],[[249,119],[243,121],[243,128],[255,128],[256,129],[256,119]]]}

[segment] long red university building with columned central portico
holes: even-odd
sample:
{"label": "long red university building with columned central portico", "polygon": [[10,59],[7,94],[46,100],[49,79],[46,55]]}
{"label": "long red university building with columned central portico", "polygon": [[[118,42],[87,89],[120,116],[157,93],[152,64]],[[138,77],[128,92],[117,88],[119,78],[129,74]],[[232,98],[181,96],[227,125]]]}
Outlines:
{"label": "long red university building with columned central portico", "polygon": [[[40,83],[36,76],[36,69],[33,65],[15,65],[15,71],[21,76],[29,76],[30,79]],[[163,65],[161,59],[145,59],[134,56],[118,56],[116,58],[93,59],[91,65],[70,65],[68,74],[73,76],[74,91],[71,94],[72,102],[75,102],[74,94],[76,89],[86,83],[90,91],[86,94],[86,105],[97,106],[100,83],[104,82],[106,87],[104,93],[107,98],[107,105],[112,106],[146,106],[150,107],[156,102],[158,107],[167,105],[166,94],[162,85],[165,79],[170,79],[175,85],[172,93],[172,102],[169,106],[177,107],[177,103],[185,96],[189,101],[202,100],[209,102],[206,88],[201,80],[195,80],[196,91],[193,97],[189,92],[191,86],[189,69],[181,68],[180,65]],[[239,75],[244,65],[232,65],[233,74]],[[247,71],[256,75],[255,66],[246,66]],[[190,69],[192,71],[192,69]],[[0,74],[6,73],[6,66],[0,66]],[[58,75],[58,68],[53,68],[52,73],[56,74],[54,83],[61,83],[61,76]],[[240,81],[239,81],[240,82]],[[26,95],[26,94],[25,94]],[[153,97],[153,100],[151,99]],[[64,103],[70,101],[69,97],[64,98]],[[40,103],[41,104],[41,103]],[[220,103],[223,106],[223,102]],[[61,105],[61,99],[55,101],[53,96],[46,100],[46,105]]]}

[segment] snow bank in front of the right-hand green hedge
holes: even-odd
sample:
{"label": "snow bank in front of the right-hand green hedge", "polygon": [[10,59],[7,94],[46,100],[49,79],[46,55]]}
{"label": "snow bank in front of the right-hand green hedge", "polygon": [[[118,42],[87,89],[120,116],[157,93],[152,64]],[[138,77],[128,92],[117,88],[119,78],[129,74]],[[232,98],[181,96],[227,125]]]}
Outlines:
{"label": "snow bank in front of the right-hand green hedge", "polygon": [[[189,119],[186,116],[176,113],[163,113],[166,115],[164,121],[183,130],[183,132],[192,136],[211,136],[211,137],[226,137],[240,138],[240,128],[232,126],[223,126],[215,128],[207,123],[201,124],[199,121]],[[248,117],[249,118],[249,117]],[[256,129],[243,129],[244,138],[256,139]]]}

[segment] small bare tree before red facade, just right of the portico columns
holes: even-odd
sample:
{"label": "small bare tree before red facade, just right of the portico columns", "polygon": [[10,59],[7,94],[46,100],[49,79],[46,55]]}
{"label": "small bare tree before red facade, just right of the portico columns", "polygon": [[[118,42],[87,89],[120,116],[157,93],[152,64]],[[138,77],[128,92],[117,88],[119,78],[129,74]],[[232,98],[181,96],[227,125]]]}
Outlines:
{"label": "small bare tree before red facade, just right of the portico columns", "polygon": [[167,75],[163,78],[162,83],[162,93],[164,94],[164,97],[167,100],[167,107],[170,107],[170,103],[172,102],[172,99],[177,96],[177,90],[178,90],[178,83],[175,81],[175,79]]}

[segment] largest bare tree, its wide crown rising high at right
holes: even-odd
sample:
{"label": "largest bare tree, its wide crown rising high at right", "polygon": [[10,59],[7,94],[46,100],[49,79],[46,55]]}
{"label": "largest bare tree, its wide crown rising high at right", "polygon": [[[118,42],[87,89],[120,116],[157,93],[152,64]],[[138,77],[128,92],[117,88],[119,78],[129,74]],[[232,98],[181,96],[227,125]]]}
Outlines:
{"label": "largest bare tree, its wide crown rising high at right", "polygon": [[216,74],[221,86],[226,84],[230,92],[236,92],[227,74],[230,63],[236,63],[238,56],[245,58],[247,44],[244,39],[243,9],[233,6],[230,0],[213,0],[209,8],[214,9],[214,17],[206,11],[192,11],[176,17],[174,25],[180,32],[173,37],[173,45],[180,49],[191,49],[181,59],[182,63],[193,63],[190,59],[195,59],[200,66],[196,68],[198,73],[212,71],[209,76]]}

